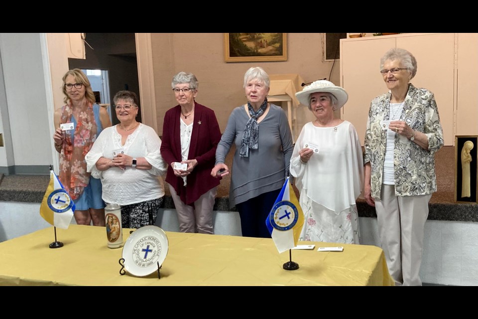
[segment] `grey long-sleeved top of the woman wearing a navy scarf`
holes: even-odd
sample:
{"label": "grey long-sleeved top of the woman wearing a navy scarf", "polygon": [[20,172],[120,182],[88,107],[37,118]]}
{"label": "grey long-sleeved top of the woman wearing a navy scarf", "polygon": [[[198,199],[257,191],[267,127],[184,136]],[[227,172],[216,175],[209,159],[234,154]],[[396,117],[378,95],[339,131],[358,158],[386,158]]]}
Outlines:
{"label": "grey long-sleeved top of the woman wearing a navy scarf", "polygon": [[231,208],[237,203],[281,188],[294,149],[284,110],[270,104],[269,113],[259,123],[258,149],[249,149],[249,157],[241,158],[240,141],[248,120],[243,105],[235,108],[216,151],[216,164],[224,163],[232,144],[236,144],[229,190]]}

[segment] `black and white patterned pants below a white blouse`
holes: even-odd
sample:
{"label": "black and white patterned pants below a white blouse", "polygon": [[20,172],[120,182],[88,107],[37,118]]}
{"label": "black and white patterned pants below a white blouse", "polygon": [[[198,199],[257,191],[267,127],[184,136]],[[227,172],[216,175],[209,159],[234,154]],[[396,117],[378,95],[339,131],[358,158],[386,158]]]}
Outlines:
{"label": "black and white patterned pants below a white blouse", "polygon": [[162,203],[163,197],[121,206],[121,226],[137,229],[145,225],[154,225]]}

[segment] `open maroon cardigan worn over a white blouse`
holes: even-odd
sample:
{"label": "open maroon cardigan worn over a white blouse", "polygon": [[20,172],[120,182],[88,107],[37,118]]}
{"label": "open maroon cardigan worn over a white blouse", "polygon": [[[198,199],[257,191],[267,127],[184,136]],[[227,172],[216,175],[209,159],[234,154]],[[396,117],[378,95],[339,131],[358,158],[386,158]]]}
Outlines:
{"label": "open maroon cardigan worn over a white blouse", "polygon": [[196,159],[198,164],[188,175],[186,186],[182,177],[174,175],[171,163],[181,162],[180,119],[181,106],[169,109],[164,115],[161,156],[168,163],[166,181],[173,186],[181,200],[190,205],[205,192],[219,185],[219,179],[211,176],[216,162],[216,149],[221,140],[221,131],[214,111],[194,102],[193,132],[189,146],[188,160]]}

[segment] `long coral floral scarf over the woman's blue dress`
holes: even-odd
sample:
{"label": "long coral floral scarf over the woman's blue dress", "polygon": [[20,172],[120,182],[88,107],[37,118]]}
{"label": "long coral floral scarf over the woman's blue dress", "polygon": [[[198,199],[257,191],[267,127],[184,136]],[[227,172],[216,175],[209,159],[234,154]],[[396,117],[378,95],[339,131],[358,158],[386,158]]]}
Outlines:
{"label": "long coral floral scarf over the woman's blue dress", "polygon": [[[73,108],[71,102],[62,107],[60,123],[71,123]],[[60,153],[60,181],[72,199],[78,199],[90,181],[86,171],[85,155],[96,141],[97,125],[93,105],[88,104],[78,116],[72,141],[70,131],[65,131],[65,139]]]}

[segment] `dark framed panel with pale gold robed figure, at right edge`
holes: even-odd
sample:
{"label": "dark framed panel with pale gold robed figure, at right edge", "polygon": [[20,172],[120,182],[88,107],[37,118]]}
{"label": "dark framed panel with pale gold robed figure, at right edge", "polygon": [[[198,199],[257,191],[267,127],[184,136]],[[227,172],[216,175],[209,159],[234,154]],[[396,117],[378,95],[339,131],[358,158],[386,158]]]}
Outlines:
{"label": "dark framed panel with pale gold robed figure, at right edge", "polygon": [[455,202],[457,203],[477,203],[477,149],[478,136],[455,136]]}

